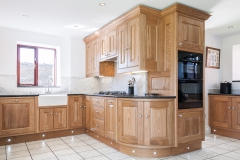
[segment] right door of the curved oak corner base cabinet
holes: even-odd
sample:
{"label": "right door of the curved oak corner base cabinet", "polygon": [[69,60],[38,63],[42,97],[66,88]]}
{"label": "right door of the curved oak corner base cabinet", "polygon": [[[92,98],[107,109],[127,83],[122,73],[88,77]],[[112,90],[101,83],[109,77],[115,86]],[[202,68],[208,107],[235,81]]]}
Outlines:
{"label": "right door of the curved oak corner base cabinet", "polygon": [[174,102],[144,102],[144,145],[174,144]]}

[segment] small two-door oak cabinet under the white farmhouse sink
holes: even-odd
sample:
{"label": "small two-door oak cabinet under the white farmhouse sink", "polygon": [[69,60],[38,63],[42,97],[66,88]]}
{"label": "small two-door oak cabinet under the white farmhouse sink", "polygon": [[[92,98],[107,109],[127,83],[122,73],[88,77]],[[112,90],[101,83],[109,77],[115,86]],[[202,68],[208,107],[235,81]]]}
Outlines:
{"label": "small two-door oak cabinet under the white farmhouse sink", "polygon": [[67,129],[67,107],[42,107],[39,109],[39,131]]}

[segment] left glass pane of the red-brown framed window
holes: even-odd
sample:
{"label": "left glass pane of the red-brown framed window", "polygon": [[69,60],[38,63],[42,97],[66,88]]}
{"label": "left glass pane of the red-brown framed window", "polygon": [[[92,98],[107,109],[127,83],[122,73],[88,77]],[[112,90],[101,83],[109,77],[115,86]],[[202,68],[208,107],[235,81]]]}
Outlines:
{"label": "left glass pane of the red-brown framed window", "polygon": [[20,84],[34,84],[34,49],[20,48]]}

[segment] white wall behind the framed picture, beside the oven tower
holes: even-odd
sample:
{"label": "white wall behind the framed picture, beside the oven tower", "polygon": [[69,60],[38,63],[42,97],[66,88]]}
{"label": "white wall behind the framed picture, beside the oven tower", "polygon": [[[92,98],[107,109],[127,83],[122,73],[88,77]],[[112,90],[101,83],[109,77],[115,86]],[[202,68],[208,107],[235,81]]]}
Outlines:
{"label": "white wall behind the framed picture, beside the oven tower", "polygon": [[[220,82],[222,81],[222,74],[221,70],[224,68],[223,64],[223,51],[222,51],[222,38],[215,37],[212,35],[205,35],[205,45],[207,47],[213,47],[220,49],[220,69],[213,69],[213,68],[205,68],[205,86],[204,86],[204,98],[205,98],[205,126],[206,126],[206,133],[210,133],[209,125],[208,125],[208,90],[209,89],[219,89],[220,88]],[[206,50],[205,50],[206,52]],[[206,54],[205,54],[206,56]],[[204,58],[206,59],[206,57]],[[204,64],[205,66],[205,64]]]}

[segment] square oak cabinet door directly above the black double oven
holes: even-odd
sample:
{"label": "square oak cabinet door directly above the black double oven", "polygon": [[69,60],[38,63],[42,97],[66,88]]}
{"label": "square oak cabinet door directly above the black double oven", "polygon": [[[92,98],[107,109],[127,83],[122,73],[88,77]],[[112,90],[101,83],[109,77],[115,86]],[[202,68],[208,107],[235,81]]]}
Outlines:
{"label": "square oak cabinet door directly above the black double oven", "polygon": [[184,16],[178,17],[178,49],[204,52],[204,22]]}

